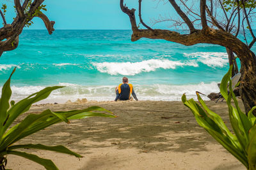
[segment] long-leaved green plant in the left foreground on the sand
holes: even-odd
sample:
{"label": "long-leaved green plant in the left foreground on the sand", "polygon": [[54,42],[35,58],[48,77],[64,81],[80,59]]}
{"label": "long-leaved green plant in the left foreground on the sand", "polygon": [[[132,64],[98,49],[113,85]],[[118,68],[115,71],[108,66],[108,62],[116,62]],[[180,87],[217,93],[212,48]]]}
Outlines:
{"label": "long-leaved green plant in the left foreground on the sand", "polygon": [[[14,73],[15,70],[13,70]],[[12,74],[13,74],[12,73]],[[11,76],[12,76],[11,74]],[[10,78],[11,78],[10,76]],[[39,150],[49,150],[54,152],[66,153],[69,155],[74,155],[76,157],[82,157],[81,155],[68,150],[64,146],[45,146],[45,145],[13,145],[17,141],[26,136],[34,134],[45,127],[49,127],[53,124],[60,122],[70,123],[71,119],[80,119],[86,117],[115,117],[114,115],[108,115],[106,113],[111,113],[110,111],[100,108],[98,106],[93,106],[86,108],[84,110],[72,110],[72,111],[51,111],[45,110],[40,114],[29,114],[24,118],[19,124],[12,126],[13,122],[17,117],[29,110],[33,103],[41,101],[51,94],[52,90],[60,89],[61,86],[46,87],[40,92],[36,92],[31,96],[22,99],[18,103],[10,101],[12,95],[12,90],[10,89],[10,78],[4,83],[2,89],[2,95],[0,99],[0,170],[5,169],[7,159],[6,155],[18,155],[26,159],[32,160],[38,164],[41,164],[45,169],[58,169],[54,163],[49,159],[42,159],[36,155],[17,151],[22,148],[31,148]],[[10,104],[11,107],[10,107]],[[96,111],[96,112],[95,112]],[[98,113],[97,111],[103,111],[104,113]]]}

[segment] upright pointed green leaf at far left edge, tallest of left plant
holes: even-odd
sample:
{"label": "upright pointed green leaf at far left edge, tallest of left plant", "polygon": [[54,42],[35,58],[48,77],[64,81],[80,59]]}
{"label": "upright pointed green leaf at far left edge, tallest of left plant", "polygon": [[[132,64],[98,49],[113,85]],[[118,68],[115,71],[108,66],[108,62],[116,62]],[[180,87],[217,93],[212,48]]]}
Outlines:
{"label": "upright pointed green leaf at far left edge, tallest of left plant", "polygon": [[[16,67],[13,69],[12,74],[15,72]],[[8,117],[7,115],[7,110],[10,107],[9,101],[10,97],[12,96],[12,90],[10,87],[10,82],[11,82],[11,77],[8,78],[8,80],[4,83],[3,88],[2,88],[2,94],[1,94],[1,99],[0,99],[0,126],[2,127],[6,118]],[[0,136],[1,139],[1,136]]]}

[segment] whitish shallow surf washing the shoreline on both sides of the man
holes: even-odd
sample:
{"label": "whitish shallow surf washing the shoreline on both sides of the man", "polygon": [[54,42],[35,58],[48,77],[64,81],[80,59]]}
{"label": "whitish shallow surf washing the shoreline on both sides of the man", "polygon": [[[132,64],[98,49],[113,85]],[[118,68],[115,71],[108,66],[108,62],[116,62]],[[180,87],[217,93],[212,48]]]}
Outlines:
{"label": "whitish shallow surf washing the shoreline on both sides of the man", "polygon": [[[93,101],[113,101],[115,99],[115,85],[85,86],[70,83],[60,83],[59,85],[66,85],[66,87],[54,90],[47,99],[40,103],[65,103],[68,99],[76,101],[77,98]],[[12,86],[12,100],[19,101],[44,88],[43,86]],[[220,92],[216,82],[202,82],[195,85],[134,85],[134,91],[139,100],[154,101],[180,101],[184,93],[188,98],[196,99],[196,91],[206,95],[211,92]],[[202,97],[209,100],[206,96]]]}

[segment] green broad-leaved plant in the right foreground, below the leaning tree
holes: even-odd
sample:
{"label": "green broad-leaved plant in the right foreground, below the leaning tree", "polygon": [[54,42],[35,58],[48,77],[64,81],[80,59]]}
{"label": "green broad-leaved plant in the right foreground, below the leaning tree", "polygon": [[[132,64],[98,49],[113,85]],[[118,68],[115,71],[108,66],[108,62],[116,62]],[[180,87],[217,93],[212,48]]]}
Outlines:
{"label": "green broad-leaved plant in the right foreground, below the leaning tree", "polygon": [[[207,108],[198,93],[196,95],[202,107],[193,99],[187,100],[185,95],[182,96],[182,102],[192,111],[198,124],[204,127],[218,143],[234,155],[247,169],[256,169],[256,118],[252,113],[256,107],[253,107],[248,112],[248,117],[246,117],[239,108],[231,86],[228,93],[228,81],[230,85],[232,84],[231,70],[232,67],[230,67],[228,73],[223,77],[220,92],[227,101],[230,123],[234,134],[229,131],[218,114]],[[231,103],[232,99],[234,106]]]}

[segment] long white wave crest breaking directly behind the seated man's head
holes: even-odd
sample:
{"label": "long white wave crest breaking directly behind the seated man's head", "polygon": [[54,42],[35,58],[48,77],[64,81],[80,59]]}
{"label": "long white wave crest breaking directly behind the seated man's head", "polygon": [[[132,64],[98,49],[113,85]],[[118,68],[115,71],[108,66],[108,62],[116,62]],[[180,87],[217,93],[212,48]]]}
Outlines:
{"label": "long white wave crest breaking directly behind the seated man's head", "polygon": [[179,60],[143,60],[141,62],[93,62],[93,66],[101,73],[111,75],[135,75],[141,72],[156,71],[156,69],[175,69],[178,66],[194,66],[198,67],[195,61],[180,62]]}

